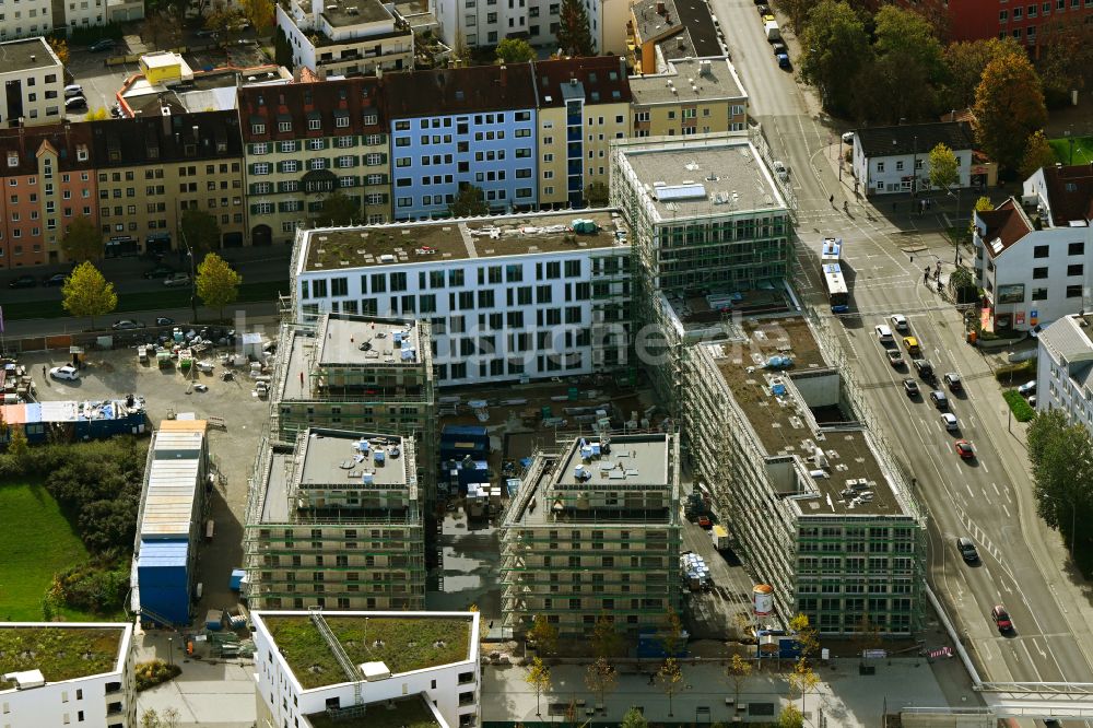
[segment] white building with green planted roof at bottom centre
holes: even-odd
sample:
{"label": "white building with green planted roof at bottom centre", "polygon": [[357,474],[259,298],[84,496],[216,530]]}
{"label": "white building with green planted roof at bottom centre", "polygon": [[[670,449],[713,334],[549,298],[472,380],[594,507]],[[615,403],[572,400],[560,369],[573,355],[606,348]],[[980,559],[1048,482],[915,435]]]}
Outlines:
{"label": "white building with green planted roof at bottom centre", "polygon": [[[402,725],[480,721],[478,612],[258,610],[251,617],[259,726],[308,726],[308,716],[328,711],[363,717],[377,703],[386,705],[376,711],[398,711]],[[316,673],[301,647],[329,649],[336,659]]]}

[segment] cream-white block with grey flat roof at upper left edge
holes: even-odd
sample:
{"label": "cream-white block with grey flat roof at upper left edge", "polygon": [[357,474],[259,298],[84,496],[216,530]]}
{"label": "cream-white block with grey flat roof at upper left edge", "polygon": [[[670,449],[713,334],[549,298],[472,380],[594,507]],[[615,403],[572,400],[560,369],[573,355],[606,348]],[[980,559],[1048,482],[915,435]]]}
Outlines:
{"label": "cream-white block with grey flat roof at upper left edge", "polygon": [[[0,2],[0,30],[9,5]],[[49,44],[43,38],[0,43],[0,126],[14,127],[20,119],[26,126],[56,124],[63,111],[64,67]]]}

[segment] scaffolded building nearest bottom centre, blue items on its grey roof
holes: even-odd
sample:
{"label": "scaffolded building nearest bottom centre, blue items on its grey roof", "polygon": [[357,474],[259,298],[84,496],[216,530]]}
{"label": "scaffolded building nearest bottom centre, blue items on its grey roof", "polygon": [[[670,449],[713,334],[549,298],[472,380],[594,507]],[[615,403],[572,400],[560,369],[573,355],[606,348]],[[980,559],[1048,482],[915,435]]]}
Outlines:
{"label": "scaffolded building nearest bottom centre, blue items on its grey roof", "polygon": [[563,637],[607,614],[636,636],[679,610],[674,434],[577,438],[537,453],[503,517],[502,612],[519,636],[545,615]]}

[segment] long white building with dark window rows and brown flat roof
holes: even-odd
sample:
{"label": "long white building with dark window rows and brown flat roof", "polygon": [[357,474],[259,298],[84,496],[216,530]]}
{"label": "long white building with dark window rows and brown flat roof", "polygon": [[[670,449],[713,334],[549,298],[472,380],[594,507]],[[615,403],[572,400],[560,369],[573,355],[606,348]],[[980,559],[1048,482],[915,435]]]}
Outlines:
{"label": "long white building with dark window rows and brown flat roof", "polygon": [[625,238],[607,210],[302,230],[293,307],[427,319],[440,386],[613,372],[628,364]]}

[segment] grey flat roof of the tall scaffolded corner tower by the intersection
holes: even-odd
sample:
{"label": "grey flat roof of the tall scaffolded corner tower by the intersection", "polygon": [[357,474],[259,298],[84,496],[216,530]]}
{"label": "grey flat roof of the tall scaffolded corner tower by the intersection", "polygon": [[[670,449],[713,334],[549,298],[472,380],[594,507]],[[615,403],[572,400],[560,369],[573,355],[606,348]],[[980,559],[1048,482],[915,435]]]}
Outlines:
{"label": "grey flat roof of the tall scaffolded corner tower by the intersection", "polygon": [[747,138],[636,144],[624,146],[622,153],[632,173],[627,183],[640,185],[659,222],[786,211],[780,192]]}

